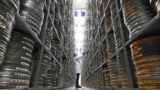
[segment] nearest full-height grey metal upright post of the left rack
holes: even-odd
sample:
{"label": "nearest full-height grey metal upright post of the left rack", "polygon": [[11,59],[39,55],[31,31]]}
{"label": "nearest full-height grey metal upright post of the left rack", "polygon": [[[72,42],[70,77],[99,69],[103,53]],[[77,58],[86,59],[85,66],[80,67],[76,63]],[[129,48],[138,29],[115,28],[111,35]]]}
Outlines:
{"label": "nearest full-height grey metal upright post of the left rack", "polygon": [[[46,4],[47,4],[48,8],[44,9],[44,21],[43,21],[43,25],[42,25],[42,31],[40,34],[40,39],[41,39],[43,45],[44,45],[46,30],[47,30],[47,26],[48,26],[50,3],[51,3],[51,0],[46,0]],[[34,76],[33,76],[34,78],[32,80],[33,88],[35,90],[38,88],[38,81],[39,81],[40,68],[41,68],[41,63],[42,63],[42,56],[43,56],[43,52],[44,52],[43,45],[39,46],[39,53],[37,56],[37,61],[36,61],[35,69],[34,69]]]}

